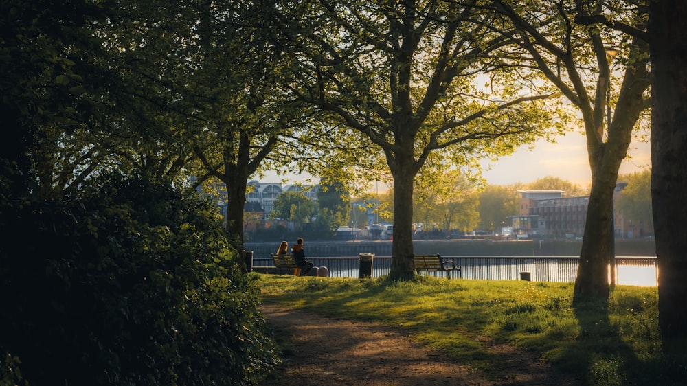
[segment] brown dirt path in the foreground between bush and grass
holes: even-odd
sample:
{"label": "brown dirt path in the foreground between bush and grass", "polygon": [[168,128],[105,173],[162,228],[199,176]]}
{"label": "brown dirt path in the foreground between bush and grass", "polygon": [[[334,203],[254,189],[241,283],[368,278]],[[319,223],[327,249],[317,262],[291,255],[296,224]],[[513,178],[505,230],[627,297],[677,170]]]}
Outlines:
{"label": "brown dirt path in the foreground between bush and grass", "polygon": [[486,374],[447,359],[397,328],[264,305],[284,340],[284,363],[264,385],[582,385],[531,352],[479,339],[497,359]]}

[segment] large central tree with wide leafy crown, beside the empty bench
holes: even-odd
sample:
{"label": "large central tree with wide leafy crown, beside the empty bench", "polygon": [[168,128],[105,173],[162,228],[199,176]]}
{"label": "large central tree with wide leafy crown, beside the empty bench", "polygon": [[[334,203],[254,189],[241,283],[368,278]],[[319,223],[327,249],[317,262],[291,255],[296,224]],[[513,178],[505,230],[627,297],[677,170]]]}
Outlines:
{"label": "large central tree with wide leafy crown, beside the empty bench", "polygon": [[366,143],[368,157],[385,159],[394,185],[390,278],[410,279],[418,172],[533,141],[552,121],[539,103],[550,95],[523,88],[526,80],[510,87],[525,69],[494,72],[477,87],[475,74],[506,52],[488,32],[490,12],[436,0],[305,1],[279,11],[293,58],[287,87],[337,122],[351,147]]}

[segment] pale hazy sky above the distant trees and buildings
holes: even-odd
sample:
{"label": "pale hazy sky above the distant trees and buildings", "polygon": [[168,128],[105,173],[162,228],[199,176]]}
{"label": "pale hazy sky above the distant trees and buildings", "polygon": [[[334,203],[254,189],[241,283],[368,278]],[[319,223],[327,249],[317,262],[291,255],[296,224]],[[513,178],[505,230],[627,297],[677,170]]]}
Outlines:
{"label": "pale hazy sky above the distant trees and buildings", "polygon": [[[630,157],[622,162],[620,174],[648,169],[651,165],[650,147],[648,141],[633,141],[628,149]],[[559,177],[580,185],[581,188],[588,188],[592,183],[585,136],[577,132],[556,137],[554,144],[539,140],[532,150],[528,146],[522,146],[513,155],[501,157],[496,162],[485,161],[482,168],[483,177],[491,185],[532,183],[543,177]],[[296,175],[286,178],[289,183],[306,179]],[[276,174],[267,173],[262,182],[278,182],[281,179],[282,177],[277,177]]]}

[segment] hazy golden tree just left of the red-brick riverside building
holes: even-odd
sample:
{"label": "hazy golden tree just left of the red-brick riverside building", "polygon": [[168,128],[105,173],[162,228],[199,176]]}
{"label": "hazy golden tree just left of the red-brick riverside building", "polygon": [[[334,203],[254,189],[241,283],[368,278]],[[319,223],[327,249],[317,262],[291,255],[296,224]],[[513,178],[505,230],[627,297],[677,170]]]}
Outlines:
{"label": "hazy golden tree just left of the red-brick riverside building", "polygon": [[487,185],[479,197],[480,229],[499,230],[510,224],[506,218],[520,213],[520,199],[513,186]]}

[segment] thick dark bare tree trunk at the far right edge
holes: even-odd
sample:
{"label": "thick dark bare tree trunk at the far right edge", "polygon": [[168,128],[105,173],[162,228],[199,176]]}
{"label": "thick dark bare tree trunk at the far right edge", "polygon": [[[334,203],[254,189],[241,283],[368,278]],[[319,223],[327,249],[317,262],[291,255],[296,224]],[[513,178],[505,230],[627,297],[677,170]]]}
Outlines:
{"label": "thick dark bare tree trunk at the far right edge", "polygon": [[651,193],[664,338],[687,334],[687,3],[651,1]]}

